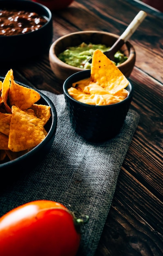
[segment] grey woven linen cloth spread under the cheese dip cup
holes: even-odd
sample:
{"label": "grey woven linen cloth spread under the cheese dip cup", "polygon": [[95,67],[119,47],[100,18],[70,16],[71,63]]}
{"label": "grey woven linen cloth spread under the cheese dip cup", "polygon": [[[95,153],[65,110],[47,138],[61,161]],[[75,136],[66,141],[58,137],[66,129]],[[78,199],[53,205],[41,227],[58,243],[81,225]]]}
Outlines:
{"label": "grey woven linen cloth spread under the cheese dip cup", "polygon": [[102,144],[91,144],[71,127],[63,94],[41,92],[56,107],[56,137],[50,152],[39,166],[0,194],[0,216],[33,200],[60,202],[79,216],[89,216],[89,221],[81,228],[78,256],[93,256],[139,116],[129,110],[118,136]]}

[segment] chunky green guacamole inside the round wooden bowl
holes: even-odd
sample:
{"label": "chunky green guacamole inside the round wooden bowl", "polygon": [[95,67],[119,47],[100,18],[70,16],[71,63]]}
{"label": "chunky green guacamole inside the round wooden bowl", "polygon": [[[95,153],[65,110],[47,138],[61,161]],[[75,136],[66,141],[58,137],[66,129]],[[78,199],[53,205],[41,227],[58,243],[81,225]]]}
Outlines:
{"label": "chunky green guacamole inside the round wooden bowl", "polygon": [[[92,57],[93,52],[96,49],[100,49],[101,52],[106,52],[109,50],[109,48],[110,47],[107,47],[106,45],[93,45],[92,43],[87,45],[86,43],[81,43],[76,47],[69,47],[64,52],[61,52],[58,55],[58,58],[68,65],[83,69],[90,69],[91,63],[88,61],[90,57]],[[120,51],[116,52],[114,58],[115,62],[113,62],[115,65],[119,65],[127,60],[127,57]]]}

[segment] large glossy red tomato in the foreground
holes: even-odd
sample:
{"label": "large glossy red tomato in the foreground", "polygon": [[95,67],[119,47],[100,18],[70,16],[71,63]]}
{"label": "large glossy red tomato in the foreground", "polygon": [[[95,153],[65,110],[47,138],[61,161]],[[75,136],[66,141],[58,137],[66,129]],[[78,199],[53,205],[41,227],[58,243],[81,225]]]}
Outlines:
{"label": "large glossy red tomato in the foreground", "polygon": [[62,204],[38,200],[0,218],[0,256],[75,256],[80,234]]}

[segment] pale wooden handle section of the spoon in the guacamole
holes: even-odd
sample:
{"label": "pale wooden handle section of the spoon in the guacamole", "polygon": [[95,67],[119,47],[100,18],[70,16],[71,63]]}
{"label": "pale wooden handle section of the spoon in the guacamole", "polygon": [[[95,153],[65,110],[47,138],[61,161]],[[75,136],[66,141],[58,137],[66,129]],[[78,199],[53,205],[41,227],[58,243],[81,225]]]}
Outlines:
{"label": "pale wooden handle section of the spoon in the guacamole", "polygon": [[132,34],[135,32],[137,27],[141,24],[141,22],[145,19],[146,16],[147,13],[145,11],[139,11],[135,18],[130,23],[130,25],[127,27],[127,29],[125,29],[123,34],[120,36],[120,39],[126,42],[132,36]]}

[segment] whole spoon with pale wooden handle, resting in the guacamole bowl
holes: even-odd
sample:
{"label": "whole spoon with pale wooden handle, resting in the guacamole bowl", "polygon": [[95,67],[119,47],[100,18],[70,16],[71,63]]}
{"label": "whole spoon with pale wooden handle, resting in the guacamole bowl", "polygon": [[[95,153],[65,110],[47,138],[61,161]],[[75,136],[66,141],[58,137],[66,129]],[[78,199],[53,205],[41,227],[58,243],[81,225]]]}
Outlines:
{"label": "whole spoon with pale wooden handle, resting in the guacamole bowl", "polygon": [[[104,52],[104,54],[109,58],[110,60],[114,61],[114,54],[121,49],[122,45],[132,36],[132,34],[135,32],[137,27],[141,24],[141,22],[145,19],[147,16],[147,13],[145,11],[139,11],[138,14],[135,16],[134,20],[130,23],[130,25],[125,29],[123,34],[116,40],[114,45],[109,49],[109,51]],[[92,58],[88,61],[89,63],[92,63]]]}

